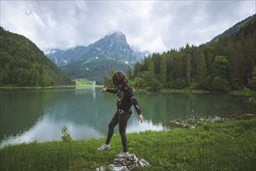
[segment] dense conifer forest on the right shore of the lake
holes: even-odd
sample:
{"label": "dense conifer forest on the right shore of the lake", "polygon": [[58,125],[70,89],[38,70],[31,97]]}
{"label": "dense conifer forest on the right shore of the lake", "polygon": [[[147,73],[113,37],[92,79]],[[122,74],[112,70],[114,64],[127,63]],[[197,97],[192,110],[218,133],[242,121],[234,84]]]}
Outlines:
{"label": "dense conifer forest on the right shore of the lake", "polygon": [[[255,16],[254,16],[255,17]],[[135,87],[160,89],[205,89],[229,91],[256,86],[256,23],[242,26],[237,33],[212,44],[181,47],[162,54],[154,53],[137,62],[128,79]],[[104,74],[104,85],[110,78]]]}

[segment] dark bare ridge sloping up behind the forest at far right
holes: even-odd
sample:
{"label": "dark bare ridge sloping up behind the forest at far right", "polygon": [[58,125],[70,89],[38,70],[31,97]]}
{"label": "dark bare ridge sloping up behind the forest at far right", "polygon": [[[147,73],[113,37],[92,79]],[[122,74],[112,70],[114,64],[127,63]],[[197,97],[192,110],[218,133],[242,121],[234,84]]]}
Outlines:
{"label": "dark bare ridge sloping up behind the forest at far right", "polygon": [[254,14],[253,16],[249,16],[247,19],[244,19],[244,20],[240,21],[239,23],[237,23],[236,25],[230,27],[229,30],[226,30],[224,33],[219,34],[218,36],[214,37],[211,41],[207,42],[205,45],[209,46],[209,45],[213,44],[214,42],[218,41],[220,38],[230,37],[234,33],[237,33],[244,26],[247,26],[248,24],[255,23],[255,22],[256,22],[256,14]]}

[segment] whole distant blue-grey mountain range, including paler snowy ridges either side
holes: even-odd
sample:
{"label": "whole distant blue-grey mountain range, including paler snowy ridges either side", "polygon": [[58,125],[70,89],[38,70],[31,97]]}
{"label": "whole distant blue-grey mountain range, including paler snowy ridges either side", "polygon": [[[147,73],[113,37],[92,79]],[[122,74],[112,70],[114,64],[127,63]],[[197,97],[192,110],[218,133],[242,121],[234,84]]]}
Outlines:
{"label": "whole distant blue-grey mountain range, including paler snowy ridges either side", "polygon": [[54,49],[45,53],[72,79],[90,79],[102,83],[105,71],[110,74],[114,68],[126,72],[128,65],[133,67],[149,51],[130,47],[124,33],[117,31],[107,34],[88,47],[73,47],[65,51]]}

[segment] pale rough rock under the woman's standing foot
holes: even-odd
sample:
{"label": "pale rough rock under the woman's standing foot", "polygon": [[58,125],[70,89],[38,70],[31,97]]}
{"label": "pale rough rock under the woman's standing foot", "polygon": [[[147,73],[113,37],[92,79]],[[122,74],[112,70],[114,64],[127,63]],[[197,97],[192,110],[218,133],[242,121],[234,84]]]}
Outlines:
{"label": "pale rough rock under the woman's standing foot", "polygon": [[146,159],[138,159],[135,154],[130,153],[127,158],[117,157],[114,159],[113,163],[110,164],[108,169],[114,171],[128,171],[135,167],[149,167],[151,164],[146,161]]}

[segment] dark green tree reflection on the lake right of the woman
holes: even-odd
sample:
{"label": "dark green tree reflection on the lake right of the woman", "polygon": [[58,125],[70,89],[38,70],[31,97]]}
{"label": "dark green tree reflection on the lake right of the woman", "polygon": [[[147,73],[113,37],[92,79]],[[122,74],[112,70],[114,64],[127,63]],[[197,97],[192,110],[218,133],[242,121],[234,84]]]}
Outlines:
{"label": "dark green tree reflection on the lake right of the woman", "polygon": [[255,113],[253,106],[245,106],[243,98],[228,94],[150,93],[136,92],[142,113],[153,124],[167,126],[170,120],[185,118],[194,113],[217,115],[222,113]]}

